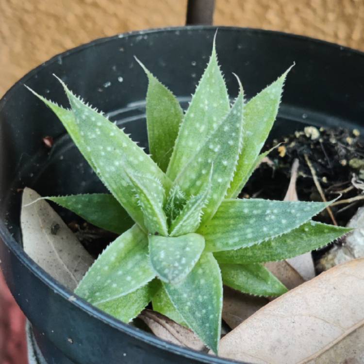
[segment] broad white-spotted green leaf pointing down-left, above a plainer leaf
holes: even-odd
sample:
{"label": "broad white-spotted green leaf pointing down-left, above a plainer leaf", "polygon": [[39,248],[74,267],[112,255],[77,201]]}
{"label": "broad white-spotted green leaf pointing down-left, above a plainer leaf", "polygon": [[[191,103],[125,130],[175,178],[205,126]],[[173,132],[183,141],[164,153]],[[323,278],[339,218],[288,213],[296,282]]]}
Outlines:
{"label": "broad white-spotted green leaf pointing down-left, above a plainer leaf", "polygon": [[98,306],[118,300],[154,277],[148,257],[147,235],[134,225],[99,255],[75,293]]}

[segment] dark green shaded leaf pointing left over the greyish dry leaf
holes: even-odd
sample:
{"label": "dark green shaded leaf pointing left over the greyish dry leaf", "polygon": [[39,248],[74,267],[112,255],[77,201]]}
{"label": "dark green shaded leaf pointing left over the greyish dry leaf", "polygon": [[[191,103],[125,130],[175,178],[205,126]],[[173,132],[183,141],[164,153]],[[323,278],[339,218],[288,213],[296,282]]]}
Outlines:
{"label": "dark green shaded leaf pointing left over the greyish dry leaf", "polygon": [[113,195],[94,193],[87,195],[45,197],[81,216],[89,223],[116,234],[132,227],[133,221]]}

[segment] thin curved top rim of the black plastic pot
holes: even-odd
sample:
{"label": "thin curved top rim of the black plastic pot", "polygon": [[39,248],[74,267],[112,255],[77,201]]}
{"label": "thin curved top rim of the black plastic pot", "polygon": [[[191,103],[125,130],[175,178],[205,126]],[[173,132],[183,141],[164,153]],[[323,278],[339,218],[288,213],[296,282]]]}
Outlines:
{"label": "thin curved top rim of the black plastic pot", "polygon": [[[285,38],[293,38],[299,42],[309,42],[309,43],[315,43],[318,45],[323,45],[325,47],[331,47],[336,48],[338,50],[345,50],[349,53],[358,54],[361,56],[364,56],[364,52],[360,50],[354,50],[349,47],[341,46],[339,44],[335,44],[332,42],[315,39],[311,37],[307,37],[304,35],[297,35],[292,33],[284,33],[279,31],[271,31],[271,30],[263,30],[263,29],[256,29],[256,28],[243,28],[243,27],[232,27],[232,26],[210,26],[210,25],[192,25],[192,26],[178,26],[178,27],[166,27],[166,28],[155,28],[155,29],[148,29],[148,30],[142,30],[142,31],[133,31],[133,32],[127,32],[127,33],[119,33],[113,36],[109,37],[102,37],[94,39],[88,43],[82,44],[78,47],[72,48],[70,50],[66,50],[64,52],[58,53],[51,57],[48,61],[42,63],[39,66],[36,66],[31,71],[29,71],[26,75],[24,75],[22,78],[20,78],[16,83],[14,83],[13,86],[10,87],[10,89],[2,96],[0,99],[0,111],[5,106],[8,99],[10,99],[13,96],[13,93],[15,92],[15,88],[18,86],[19,83],[24,84],[29,80],[31,77],[33,77],[34,74],[38,72],[38,70],[42,69],[45,66],[50,65],[53,62],[57,62],[57,58],[59,56],[67,56],[69,54],[74,54],[79,51],[82,51],[88,47],[97,46],[99,44],[108,42],[112,39],[116,38],[123,38],[123,37],[136,37],[141,34],[152,34],[152,33],[160,33],[160,32],[176,32],[176,31],[182,31],[182,32],[188,32],[188,31],[199,31],[199,30],[218,30],[219,32],[229,32],[229,31],[245,31],[247,33],[251,34],[262,34],[262,35],[270,35],[270,36],[276,36],[276,37],[285,37]],[[94,307],[93,305],[87,303],[82,298],[79,298],[78,296],[76,300],[69,300],[70,296],[73,296],[73,292],[69,291],[65,286],[63,286],[61,283],[56,281],[54,278],[52,278],[47,272],[45,272],[42,268],[40,268],[39,265],[33,262],[33,260],[25,253],[23,248],[20,246],[20,244],[15,240],[15,238],[10,234],[6,226],[4,224],[0,223],[0,238],[4,242],[4,244],[9,248],[14,255],[19,259],[19,261],[26,266],[34,276],[36,276],[38,279],[40,279],[42,282],[44,282],[50,289],[54,291],[54,293],[60,295],[61,297],[65,298],[70,302],[71,304],[77,306],[79,309],[83,310],[87,314],[98,318],[103,323],[110,325],[111,327],[117,329],[118,331],[122,331],[138,340],[141,340],[145,343],[148,343],[149,345],[153,345],[155,347],[159,347],[162,349],[165,349],[170,352],[174,352],[176,354],[182,355],[187,358],[191,359],[197,359],[201,362],[205,363],[215,363],[215,364],[226,364],[226,363],[241,363],[236,362],[224,358],[219,358],[215,356],[211,356],[206,353],[201,353],[199,351],[195,351],[193,349],[189,349],[187,347],[180,347],[178,345],[166,342],[165,340],[162,340],[158,338],[157,336],[154,336],[146,331],[139,330],[129,324],[123,323],[122,321],[114,318],[113,316],[104,313],[103,311],[99,310],[98,308]]]}

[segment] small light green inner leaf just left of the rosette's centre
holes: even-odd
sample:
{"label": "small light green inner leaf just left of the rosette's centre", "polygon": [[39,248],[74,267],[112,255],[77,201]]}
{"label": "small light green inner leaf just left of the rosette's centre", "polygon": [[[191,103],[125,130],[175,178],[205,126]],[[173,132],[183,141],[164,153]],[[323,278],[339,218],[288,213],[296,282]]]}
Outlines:
{"label": "small light green inner leaf just left of the rosette's centre", "polygon": [[148,232],[168,235],[167,219],[163,211],[165,191],[161,182],[152,176],[130,173],[128,168],[125,168],[125,173],[134,186]]}

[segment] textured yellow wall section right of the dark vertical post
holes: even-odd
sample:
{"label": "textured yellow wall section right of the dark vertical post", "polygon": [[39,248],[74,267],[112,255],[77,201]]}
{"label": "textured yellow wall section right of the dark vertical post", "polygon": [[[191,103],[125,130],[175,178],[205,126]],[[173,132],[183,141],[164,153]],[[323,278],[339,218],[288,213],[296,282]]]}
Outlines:
{"label": "textured yellow wall section right of the dark vertical post", "polygon": [[364,0],[216,0],[214,23],[296,33],[364,50]]}

